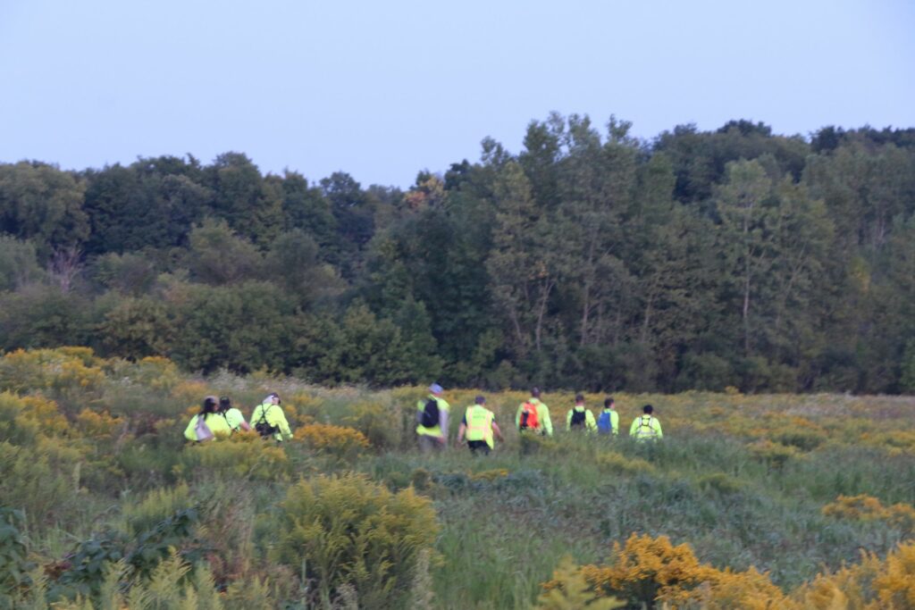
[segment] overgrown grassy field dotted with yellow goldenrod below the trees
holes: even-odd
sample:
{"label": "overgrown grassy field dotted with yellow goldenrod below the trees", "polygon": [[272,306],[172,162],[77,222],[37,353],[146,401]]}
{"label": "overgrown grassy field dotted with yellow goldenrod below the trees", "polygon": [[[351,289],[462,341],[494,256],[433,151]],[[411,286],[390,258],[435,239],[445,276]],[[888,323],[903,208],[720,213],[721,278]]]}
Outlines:
{"label": "overgrown grassy field dotted with yellow goldenrod below the trees", "polygon": [[[418,388],[60,348],[5,355],[0,391],[0,607],[915,607],[909,397],[619,394],[624,430],[662,421],[640,444],[565,433],[572,392],[519,438],[504,391],[484,457],[415,450]],[[267,391],[293,441],[185,443],[203,396]],[[446,391],[452,439],[477,393]]]}

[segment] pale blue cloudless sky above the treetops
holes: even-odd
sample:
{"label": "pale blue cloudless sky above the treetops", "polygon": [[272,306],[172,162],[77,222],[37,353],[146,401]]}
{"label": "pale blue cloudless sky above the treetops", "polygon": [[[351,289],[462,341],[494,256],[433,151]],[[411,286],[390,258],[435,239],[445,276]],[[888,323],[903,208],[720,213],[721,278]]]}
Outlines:
{"label": "pale blue cloudless sky above the treetops", "polygon": [[550,112],[915,126],[911,0],[0,0],[0,162],[241,152],[409,187]]}

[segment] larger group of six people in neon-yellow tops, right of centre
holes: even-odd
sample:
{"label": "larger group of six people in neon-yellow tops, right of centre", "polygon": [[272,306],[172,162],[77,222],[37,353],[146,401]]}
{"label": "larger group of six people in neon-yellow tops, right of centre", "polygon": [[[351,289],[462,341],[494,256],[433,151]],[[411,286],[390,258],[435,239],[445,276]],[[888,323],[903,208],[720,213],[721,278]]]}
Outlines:
{"label": "larger group of six people in neon-yellow tops, right of centre", "polygon": [[[448,413],[451,406],[442,398],[443,389],[437,383],[429,386],[428,396],[416,403],[416,434],[423,451],[447,447]],[[533,388],[531,397],[518,405],[515,413],[515,427],[519,433],[540,433],[553,436],[553,421],[550,409],[540,400],[540,389]],[[604,401],[604,408],[597,414],[585,406],[585,397],[575,397],[573,406],[565,415],[565,430],[568,432],[619,434],[619,413],[612,397]],[[646,404],[642,414],[632,420],[630,437],[640,441],[657,440],[663,437],[661,422],[654,416],[654,407]],[[504,440],[493,412],[486,408],[486,397],[478,396],[467,407],[458,428],[458,445],[468,445],[471,452],[489,454],[495,447],[495,440]]]}

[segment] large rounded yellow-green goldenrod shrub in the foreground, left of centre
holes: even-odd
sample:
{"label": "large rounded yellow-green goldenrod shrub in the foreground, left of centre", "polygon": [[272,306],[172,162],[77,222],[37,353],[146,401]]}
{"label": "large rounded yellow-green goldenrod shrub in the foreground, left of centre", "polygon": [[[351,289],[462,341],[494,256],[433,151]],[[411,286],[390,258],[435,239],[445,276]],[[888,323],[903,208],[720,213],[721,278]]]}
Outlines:
{"label": "large rounded yellow-green goldenrod shrub in the foreground, left of centre", "polygon": [[281,509],[276,557],[316,581],[326,608],[344,584],[364,607],[397,605],[419,551],[432,547],[438,531],[431,500],[412,488],[392,494],[358,475],[300,481]]}

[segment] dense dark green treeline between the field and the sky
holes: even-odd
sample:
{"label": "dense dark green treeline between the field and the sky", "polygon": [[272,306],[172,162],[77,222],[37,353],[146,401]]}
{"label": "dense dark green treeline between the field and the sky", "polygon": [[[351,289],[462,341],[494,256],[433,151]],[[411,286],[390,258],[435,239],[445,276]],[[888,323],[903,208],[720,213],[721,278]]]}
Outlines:
{"label": "dense dark green treeline between the field and the sky", "polygon": [[324,383],[915,390],[915,129],[552,115],[414,187],[0,165],[0,348]]}

